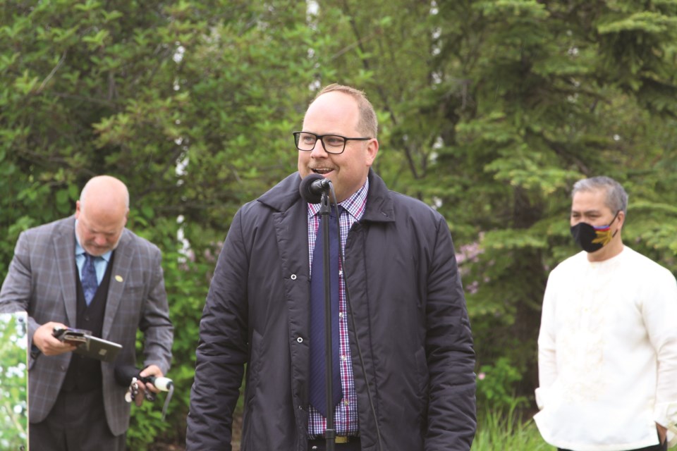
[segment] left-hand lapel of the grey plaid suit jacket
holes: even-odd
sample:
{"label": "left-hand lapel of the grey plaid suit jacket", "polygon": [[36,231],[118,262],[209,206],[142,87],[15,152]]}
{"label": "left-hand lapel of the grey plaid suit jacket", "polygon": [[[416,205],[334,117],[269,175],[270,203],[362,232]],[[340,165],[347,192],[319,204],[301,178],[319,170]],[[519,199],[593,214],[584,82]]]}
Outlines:
{"label": "left-hand lapel of the grey plaid suit jacket", "polygon": [[75,217],[63,221],[54,235],[54,256],[59,271],[61,295],[66,307],[68,326],[75,327],[77,321],[77,287],[75,286]]}

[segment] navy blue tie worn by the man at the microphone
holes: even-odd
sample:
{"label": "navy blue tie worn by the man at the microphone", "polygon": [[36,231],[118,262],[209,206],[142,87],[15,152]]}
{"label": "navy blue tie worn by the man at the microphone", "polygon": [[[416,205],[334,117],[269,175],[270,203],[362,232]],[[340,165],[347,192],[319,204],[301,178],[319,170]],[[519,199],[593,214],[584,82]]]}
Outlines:
{"label": "navy blue tie worn by the man at the microphone", "polygon": [[[339,216],[343,207],[338,207]],[[338,362],[340,341],[338,338],[338,228],[336,211],[326,216],[329,221],[329,259],[331,278],[331,399],[332,411],[341,400],[341,367]],[[312,252],[310,276],[310,404],[323,416],[327,416],[327,390],[325,383],[325,336],[324,336],[324,239],[322,221],[317,228],[315,249]]]}

